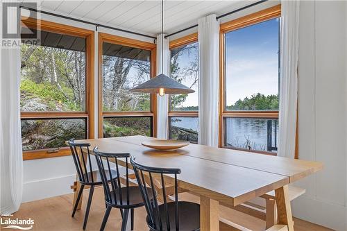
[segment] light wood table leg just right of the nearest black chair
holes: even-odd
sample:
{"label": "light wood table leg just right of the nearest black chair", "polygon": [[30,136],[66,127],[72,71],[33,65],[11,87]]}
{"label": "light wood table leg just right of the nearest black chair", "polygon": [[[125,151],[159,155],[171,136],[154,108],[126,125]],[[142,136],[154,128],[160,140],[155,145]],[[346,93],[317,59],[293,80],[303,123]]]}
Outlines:
{"label": "light wood table leg just right of the nearest black chair", "polygon": [[219,202],[211,198],[200,197],[200,230],[219,230]]}

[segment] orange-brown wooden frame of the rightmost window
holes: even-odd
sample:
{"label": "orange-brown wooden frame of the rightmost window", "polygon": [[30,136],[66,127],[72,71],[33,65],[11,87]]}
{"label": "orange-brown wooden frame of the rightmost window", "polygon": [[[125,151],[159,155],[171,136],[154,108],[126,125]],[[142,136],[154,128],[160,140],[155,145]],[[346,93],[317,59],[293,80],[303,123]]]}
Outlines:
{"label": "orange-brown wooden frame of the rightmost window", "polygon": [[281,16],[281,5],[260,10],[251,15],[246,15],[230,22],[221,24],[219,32],[219,147],[230,148],[242,151],[251,151],[253,153],[262,153],[266,155],[277,155],[268,151],[248,150],[243,148],[235,148],[224,146],[224,119],[225,118],[259,118],[259,119],[278,119],[278,111],[228,111],[226,110],[226,74],[225,74],[225,41],[224,35],[230,31],[235,31],[239,28],[251,26],[269,19],[274,19]]}

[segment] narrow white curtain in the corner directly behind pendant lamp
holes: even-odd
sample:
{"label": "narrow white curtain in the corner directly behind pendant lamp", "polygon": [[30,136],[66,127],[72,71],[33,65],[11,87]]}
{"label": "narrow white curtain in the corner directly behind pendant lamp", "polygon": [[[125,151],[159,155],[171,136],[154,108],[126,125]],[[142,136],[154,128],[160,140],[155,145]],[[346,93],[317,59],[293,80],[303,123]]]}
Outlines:
{"label": "narrow white curtain in the corner directly behind pendant lamp", "polygon": [[[163,35],[164,37],[165,35]],[[163,53],[162,53],[163,45]],[[162,59],[163,55],[163,59]],[[163,63],[162,63],[163,60]],[[169,40],[163,40],[162,35],[157,36],[157,74],[165,74],[169,76],[169,62],[170,62],[170,51],[169,51]],[[167,139],[167,126],[168,118],[167,113],[169,110],[169,96],[159,96],[157,94],[157,137],[160,139]]]}

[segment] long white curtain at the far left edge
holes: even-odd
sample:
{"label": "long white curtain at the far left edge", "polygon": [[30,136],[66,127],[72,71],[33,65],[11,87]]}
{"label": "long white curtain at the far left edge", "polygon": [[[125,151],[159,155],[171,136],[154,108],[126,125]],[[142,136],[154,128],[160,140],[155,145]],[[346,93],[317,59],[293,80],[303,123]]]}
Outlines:
{"label": "long white curtain at the far left edge", "polygon": [[[0,6],[2,12],[2,6]],[[9,14],[12,12],[8,12]],[[12,15],[7,19],[16,20]],[[2,17],[0,24],[2,25]],[[14,22],[17,24],[17,22]],[[13,25],[13,24],[12,24]],[[0,30],[2,33],[2,28]],[[1,37],[3,37],[1,35]],[[19,108],[20,49],[0,48],[0,213],[19,209],[23,191],[23,158]]]}

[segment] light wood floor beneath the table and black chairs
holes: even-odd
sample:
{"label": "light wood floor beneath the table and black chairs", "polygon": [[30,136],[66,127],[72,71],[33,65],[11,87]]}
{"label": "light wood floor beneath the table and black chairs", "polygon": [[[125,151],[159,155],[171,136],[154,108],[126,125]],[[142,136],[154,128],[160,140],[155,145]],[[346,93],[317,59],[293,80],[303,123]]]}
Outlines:
{"label": "light wood floor beneath the table and black chairs", "polygon": [[[82,209],[76,212],[74,218],[71,217],[72,194],[24,203],[12,218],[34,219],[35,224],[33,225],[33,230],[37,231],[83,230],[82,224],[88,194],[89,190],[85,190],[83,194],[85,200],[83,200]],[[198,200],[196,196],[192,196],[191,194],[183,194],[181,199]],[[92,207],[90,209],[90,216],[86,230],[99,230],[104,212],[105,203],[103,201],[103,191],[102,188],[99,187],[94,191]],[[251,216],[231,209],[226,209],[225,207],[221,208],[221,213],[223,213],[223,217],[228,218],[230,221],[238,223],[239,225],[242,225],[250,230],[264,230],[265,223],[259,219],[255,219]],[[135,231],[149,230],[146,225],[145,217],[146,210],[144,207],[135,209]],[[300,219],[294,219],[294,223],[296,231],[330,230],[328,228],[323,228],[322,226],[308,223],[307,221],[302,221]],[[119,213],[119,209],[112,209],[105,230],[120,230],[120,225],[121,215]]]}

